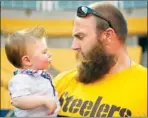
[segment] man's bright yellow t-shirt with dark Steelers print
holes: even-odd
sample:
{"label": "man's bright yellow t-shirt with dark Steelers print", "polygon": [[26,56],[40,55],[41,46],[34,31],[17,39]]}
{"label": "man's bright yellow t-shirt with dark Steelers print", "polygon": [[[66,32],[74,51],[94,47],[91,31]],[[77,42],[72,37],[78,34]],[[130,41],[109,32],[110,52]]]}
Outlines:
{"label": "man's bright yellow t-shirt with dark Steelers print", "polygon": [[94,83],[75,80],[76,70],[54,79],[61,111],[59,116],[147,116],[147,68],[135,64]]}

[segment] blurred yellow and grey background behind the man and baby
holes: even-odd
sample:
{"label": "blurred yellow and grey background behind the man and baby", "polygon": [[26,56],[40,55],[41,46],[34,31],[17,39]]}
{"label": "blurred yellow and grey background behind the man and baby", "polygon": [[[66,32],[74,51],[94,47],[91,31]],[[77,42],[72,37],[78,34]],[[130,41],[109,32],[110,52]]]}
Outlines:
{"label": "blurred yellow and grey background behind the man and baby", "polygon": [[[49,69],[53,77],[76,65],[72,44],[72,24],[76,9],[95,1],[1,1],[1,109],[0,117],[13,116],[8,82],[14,67],[8,62],[5,38],[8,34],[37,25],[47,30],[47,43],[53,61]],[[127,50],[130,57],[147,67],[147,1],[110,1],[128,23]]]}

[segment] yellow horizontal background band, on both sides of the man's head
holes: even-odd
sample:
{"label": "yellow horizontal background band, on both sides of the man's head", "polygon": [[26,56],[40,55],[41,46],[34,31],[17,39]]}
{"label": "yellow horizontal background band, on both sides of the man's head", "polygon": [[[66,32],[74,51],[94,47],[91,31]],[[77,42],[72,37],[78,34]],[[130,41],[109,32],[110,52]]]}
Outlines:
{"label": "yellow horizontal background band, on both sides of the man's head", "polygon": [[[127,19],[128,34],[147,34],[147,17],[134,17]],[[73,20],[49,20],[49,19],[14,19],[2,18],[1,30],[14,32],[23,28],[41,25],[47,29],[50,36],[71,36]]]}

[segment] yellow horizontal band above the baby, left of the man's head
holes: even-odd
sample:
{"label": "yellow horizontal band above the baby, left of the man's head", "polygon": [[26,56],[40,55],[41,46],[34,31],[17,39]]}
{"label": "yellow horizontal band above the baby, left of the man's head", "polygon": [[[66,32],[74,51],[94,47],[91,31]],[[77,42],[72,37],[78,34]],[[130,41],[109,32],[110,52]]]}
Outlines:
{"label": "yellow horizontal band above the baby, left of the man's head", "polygon": [[72,20],[39,20],[39,19],[1,19],[1,30],[14,32],[23,28],[35,27],[37,25],[46,28],[47,34],[50,36],[66,36],[71,35]]}

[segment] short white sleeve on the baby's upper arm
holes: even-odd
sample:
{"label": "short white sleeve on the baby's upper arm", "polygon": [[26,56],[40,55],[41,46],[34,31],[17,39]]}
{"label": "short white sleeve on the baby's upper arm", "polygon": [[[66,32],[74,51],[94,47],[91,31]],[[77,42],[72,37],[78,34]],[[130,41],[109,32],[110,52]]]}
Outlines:
{"label": "short white sleeve on the baby's upper arm", "polygon": [[28,75],[16,75],[9,82],[9,92],[11,98],[21,97],[31,94],[30,77]]}

